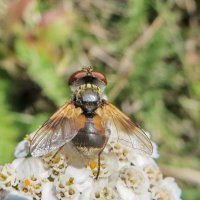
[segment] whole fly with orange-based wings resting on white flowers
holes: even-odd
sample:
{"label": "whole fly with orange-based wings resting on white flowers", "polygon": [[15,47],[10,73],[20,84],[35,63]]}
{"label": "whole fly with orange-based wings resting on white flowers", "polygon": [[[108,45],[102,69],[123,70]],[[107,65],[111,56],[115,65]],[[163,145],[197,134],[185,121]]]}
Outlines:
{"label": "whole fly with orange-based wings resting on white flowers", "polygon": [[144,131],[124,113],[104,99],[106,77],[91,67],[69,78],[72,98],[44,123],[31,140],[32,156],[43,156],[71,142],[84,157],[98,156],[110,135],[126,146],[152,153],[152,144]]}

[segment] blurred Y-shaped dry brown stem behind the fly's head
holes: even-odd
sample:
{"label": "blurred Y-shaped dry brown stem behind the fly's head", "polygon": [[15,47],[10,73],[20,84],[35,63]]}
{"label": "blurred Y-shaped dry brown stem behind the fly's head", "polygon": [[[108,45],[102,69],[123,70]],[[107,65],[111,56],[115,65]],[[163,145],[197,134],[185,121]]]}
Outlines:
{"label": "blurred Y-shaped dry brown stem behind the fly's head", "polygon": [[163,24],[164,19],[162,18],[162,16],[159,15],[153,21],[153,23],[149,25],[146,28],[146,30],[144,30],[143,35],[141,35],[136,41],[134,41],[129,46],[129,48],[126,50],[124,56],[121,58],[120,61],[110,56],[104,49],[98,46],[91,46],[90,44],[85,44],[85,46],[87,46],[87,48],[89,49],[90,55],[103,61],[112,69],[117,70],[118,73],[123,74],[123,76],[121,76],[121,78],[115,84],[115,87],[110,92],[110,100],[114,100],[127,84],[128,76],[134,69],[134,63],[132,61],[132,58],[135,55],[135,53],[151,40],[153,35],[156,33],[157,30],[160,29],[160,27],[163,26]]}

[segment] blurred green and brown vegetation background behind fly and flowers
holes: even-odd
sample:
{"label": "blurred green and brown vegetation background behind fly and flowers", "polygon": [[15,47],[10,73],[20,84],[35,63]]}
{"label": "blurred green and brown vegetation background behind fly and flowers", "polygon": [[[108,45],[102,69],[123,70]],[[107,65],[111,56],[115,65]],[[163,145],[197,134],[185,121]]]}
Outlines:
{"label": "blurred green and brown vegetation background behind fly and flowers", "polygon": [[183,199],[200,199],[200,2],[0,0],[0,164],[70,98],[84,66],[152,134]]}

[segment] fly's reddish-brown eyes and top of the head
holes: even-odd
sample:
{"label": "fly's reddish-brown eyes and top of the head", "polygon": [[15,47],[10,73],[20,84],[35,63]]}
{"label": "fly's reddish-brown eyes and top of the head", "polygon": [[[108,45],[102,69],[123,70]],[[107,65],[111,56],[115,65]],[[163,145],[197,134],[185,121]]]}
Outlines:
{"label": "fly's reddish-brown eyes and top of the head", "polygon": [[68,84],[73,85],[75,81],[88,78],[96,79],[101,81],[104,85],[107,85],[106,77],[100,72],[93,71],[91,67],[83,68],[82,70],[73,73],[69,78]]}

